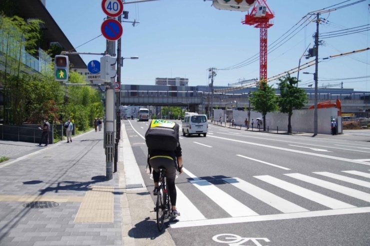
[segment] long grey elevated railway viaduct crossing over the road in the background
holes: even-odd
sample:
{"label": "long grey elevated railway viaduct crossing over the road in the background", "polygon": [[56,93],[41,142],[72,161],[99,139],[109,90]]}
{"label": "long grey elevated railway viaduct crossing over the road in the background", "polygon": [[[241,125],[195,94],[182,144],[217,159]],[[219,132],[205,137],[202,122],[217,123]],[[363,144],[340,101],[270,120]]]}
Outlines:
{"label": "long grey elevated railway viaduct crossing over the road in the background", "polygon": [[[214,89],[227,86],[214,86]],[[303,88],[308,96],[309,108],[314,103],[314,89]],[[213,92],[213,108],[230,107],[231,101],[236,101],[233,107],[245,110],[249,106],[248,96],[256,88],[241,88],[229,92]],[[276,89],[276,95],[279,90]],[[152,105],[152,106],[183,106],[190,111],[208,113],[211,105],[211,89],[209,86],[167,86],[167,85],[122,85],[121,105]],[[341,101],[342,112],[354,112],[358,117],[370,116],[370,92],[355,91],[345,88],[325,88],[318,90],[318,102],[327,100]],[[252,109],[252,108],[251,108]]]}

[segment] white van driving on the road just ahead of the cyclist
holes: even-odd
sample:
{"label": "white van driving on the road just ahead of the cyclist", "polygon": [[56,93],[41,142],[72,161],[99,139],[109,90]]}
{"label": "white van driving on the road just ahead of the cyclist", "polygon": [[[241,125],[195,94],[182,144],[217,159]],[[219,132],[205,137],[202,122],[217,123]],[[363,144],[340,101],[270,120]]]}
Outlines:
{"label": "white van driving on the road just ahead of the cyclist", "polygon": [[191,134],[207,135],[208,120],[205,114],[186,115],[182,120],[182,135]]}

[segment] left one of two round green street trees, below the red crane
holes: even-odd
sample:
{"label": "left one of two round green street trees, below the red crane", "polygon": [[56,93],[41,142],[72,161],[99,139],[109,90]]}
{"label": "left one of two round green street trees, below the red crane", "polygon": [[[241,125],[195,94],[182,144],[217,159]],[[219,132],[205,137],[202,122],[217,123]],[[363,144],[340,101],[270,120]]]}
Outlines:
{"label": "left one of two round green street trees, below the red crane", "polygon": [[275,89],[267,82],[261,81],[258,89],[251,92],[250,104],[254,111],[260,112],[263,117],[263,130],[266,130],[266,114],[278,109],[276,103]]}

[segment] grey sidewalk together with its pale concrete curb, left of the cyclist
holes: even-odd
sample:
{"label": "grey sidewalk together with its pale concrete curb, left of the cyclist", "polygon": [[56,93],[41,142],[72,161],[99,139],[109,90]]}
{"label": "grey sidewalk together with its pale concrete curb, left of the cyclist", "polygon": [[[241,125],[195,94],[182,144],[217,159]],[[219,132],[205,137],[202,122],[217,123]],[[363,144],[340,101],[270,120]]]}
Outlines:
{"label": "grey sidewalk together with its pale concrete curb, left of the cyclist", "polygon": [[0,141],[0,156],[10,157],[0,163],[0,246],[174,245],[168,231],[156,228],[143,182],[126,189],[139,170],[122,127],[111,180],[105,179],[103,131],[48,147]]}

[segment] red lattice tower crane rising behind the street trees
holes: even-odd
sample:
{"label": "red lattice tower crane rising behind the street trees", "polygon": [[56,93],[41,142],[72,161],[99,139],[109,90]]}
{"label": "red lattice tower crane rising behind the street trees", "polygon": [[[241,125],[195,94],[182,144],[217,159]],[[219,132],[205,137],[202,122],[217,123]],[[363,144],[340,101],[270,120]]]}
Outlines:
{"label": "red lattice tower crane rising behind the street trees", "polygon": [[252,11],[245,15],[241,23],[259,28],[259,79],[267,78],[267,28],[274,17],[265,0],[257,0]]}

